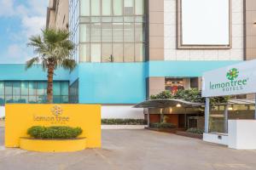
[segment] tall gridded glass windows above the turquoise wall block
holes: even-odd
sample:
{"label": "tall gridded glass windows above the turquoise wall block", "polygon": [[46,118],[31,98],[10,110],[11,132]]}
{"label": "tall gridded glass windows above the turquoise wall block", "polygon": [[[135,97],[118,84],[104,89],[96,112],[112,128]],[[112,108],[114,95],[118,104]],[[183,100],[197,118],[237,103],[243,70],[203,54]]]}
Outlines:
{"label": "tall gridded glass windows above the turquoise wall block", "polygon": [[141,62],[144,0],[80,0],[80,62]]}

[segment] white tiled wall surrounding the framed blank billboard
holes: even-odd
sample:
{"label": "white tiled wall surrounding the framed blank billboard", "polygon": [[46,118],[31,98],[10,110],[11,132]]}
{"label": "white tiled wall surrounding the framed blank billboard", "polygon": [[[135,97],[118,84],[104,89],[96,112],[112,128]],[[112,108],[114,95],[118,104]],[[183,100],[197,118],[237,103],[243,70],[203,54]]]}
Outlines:
{"label": "white tiled wall surrounding the framed blank billboard", "polygon": [[165,0],[164,3],[165,60],[243,59],[243,0],[231,0],[231,49],[177,49],[177,0]]}

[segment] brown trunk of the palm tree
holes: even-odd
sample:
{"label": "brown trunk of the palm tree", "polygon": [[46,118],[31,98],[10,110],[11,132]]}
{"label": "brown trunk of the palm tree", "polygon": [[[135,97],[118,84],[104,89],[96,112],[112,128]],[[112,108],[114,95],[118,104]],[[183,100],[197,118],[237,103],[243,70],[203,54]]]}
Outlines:
{"label": "brown trunk of the palm tree", "polygon": [[47,101],[49,104],[53,103],[53,77],[54,77],[55,65],[49,63],[48,65],[48,84],[47,84]]}

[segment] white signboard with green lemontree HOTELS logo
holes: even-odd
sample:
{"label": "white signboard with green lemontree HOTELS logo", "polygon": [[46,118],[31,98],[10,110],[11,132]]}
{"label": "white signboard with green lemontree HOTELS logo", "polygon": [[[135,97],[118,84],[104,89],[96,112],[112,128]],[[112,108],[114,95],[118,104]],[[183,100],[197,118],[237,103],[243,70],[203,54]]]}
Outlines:
{"label": "white signboard with green lemontree HOTELS logo", "polygon": [[203,74],[202,97],[256,93],[256,59]]}

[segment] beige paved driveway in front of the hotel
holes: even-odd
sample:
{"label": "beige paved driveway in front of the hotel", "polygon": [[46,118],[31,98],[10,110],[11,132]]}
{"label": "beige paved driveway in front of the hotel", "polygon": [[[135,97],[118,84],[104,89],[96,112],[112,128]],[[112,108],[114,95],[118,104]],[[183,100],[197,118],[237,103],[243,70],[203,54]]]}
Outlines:
{"label": "beige paved driveway in front of the hotel", "polygon": [[230,150],[199,139],[148,130],[102,130],[102,149],[52,154],[4,149],[0,170],[247,170],[256,150]]}

